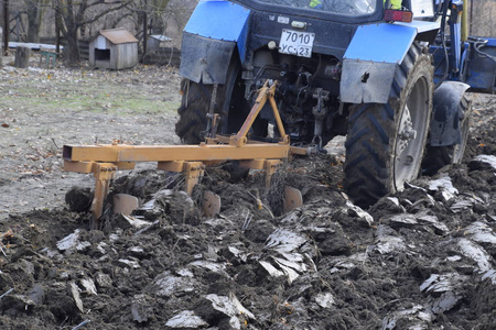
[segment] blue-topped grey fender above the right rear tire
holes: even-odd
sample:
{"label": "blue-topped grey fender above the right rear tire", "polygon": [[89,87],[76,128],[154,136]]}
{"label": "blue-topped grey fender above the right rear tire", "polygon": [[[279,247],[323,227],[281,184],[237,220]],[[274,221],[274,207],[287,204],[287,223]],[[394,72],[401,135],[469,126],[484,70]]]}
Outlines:
{"label": "blue-topped grey fender above the right rear tire", "polygon": [[416,38],[436,31],[439,23],[379,23],[357,28],[343,57],[341,100],[387,103],[398,67]]}

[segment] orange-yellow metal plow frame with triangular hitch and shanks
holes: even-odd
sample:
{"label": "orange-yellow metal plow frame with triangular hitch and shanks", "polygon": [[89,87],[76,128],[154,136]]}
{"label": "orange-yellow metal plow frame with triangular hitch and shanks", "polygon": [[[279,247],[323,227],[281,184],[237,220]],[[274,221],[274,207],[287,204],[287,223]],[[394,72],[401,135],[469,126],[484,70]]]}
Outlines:
{"label": "orange-yellow metal plow frame with triangular hitch and shanks", "polygon": [[[212,132],[200,145],[64,145],[64,169],[77,173],[93,173],[96,179],[91,204],[91,229],[100,228],[104,201],[116,170],[133,169],[137,162],[158,162],[158,169],[182,172],[187,194],[198,183],[205,166],[226,161],[239,161],[244,168],[263,169],[266,185],[283,160],[294,154],[306,155],[311,148],[294,147],[285,134],[274,101],[277,84],[267,81],[259,90],[257,100],[237,134],[222,136]],[[278,142],[248,140],[248,132],[260,110],[269,101],[280,133]],[[213,119],[215,120],[215,119]]]}

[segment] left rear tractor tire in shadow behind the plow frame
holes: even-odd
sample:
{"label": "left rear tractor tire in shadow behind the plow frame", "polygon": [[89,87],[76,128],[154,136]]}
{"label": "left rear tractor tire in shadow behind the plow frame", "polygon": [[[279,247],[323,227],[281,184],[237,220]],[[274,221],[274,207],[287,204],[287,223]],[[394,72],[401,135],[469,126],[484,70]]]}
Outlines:
{"label": "left rear tractor tire in shadow behind the plow frame", "polygon": [[[215,112],[220,114],[218,132],[229,134],[236,132],[249,112],[245,99],[244,84],[240,78],[239,62],[229,65],[226,84],[218,85]],[[197,144],[203,141],[203,132],[207,127],[207,113],[213,97],[214,86],[194,82],[188,79],[181,81],[182,100],[177,109],[179,121],[175,133],[183,143]]]}

